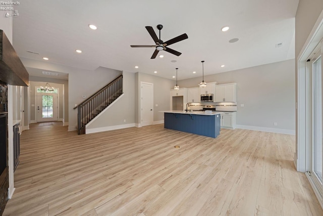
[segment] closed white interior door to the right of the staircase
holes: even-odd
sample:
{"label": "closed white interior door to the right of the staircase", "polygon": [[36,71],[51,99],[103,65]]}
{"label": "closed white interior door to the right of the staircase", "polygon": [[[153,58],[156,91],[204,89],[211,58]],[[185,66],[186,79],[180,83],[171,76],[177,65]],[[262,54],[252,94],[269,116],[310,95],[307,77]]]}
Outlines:
{"label": "closed white interior door to the right of the staircase", "polygon": [[141,126],[151,125],[153,122],[153,84],[141,82]]}

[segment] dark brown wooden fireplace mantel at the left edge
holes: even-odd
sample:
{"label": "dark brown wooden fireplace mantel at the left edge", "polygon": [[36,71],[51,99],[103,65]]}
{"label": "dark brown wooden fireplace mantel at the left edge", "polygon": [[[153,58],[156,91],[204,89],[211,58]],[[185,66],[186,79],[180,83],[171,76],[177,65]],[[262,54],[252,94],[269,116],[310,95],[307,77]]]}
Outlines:
{"label": "dark brown wooden fireplace mantel at the left edge", "polygon": [[29,74],[11,45],[5,32],[0,29],[0,80],[11,84],[28,86]]}

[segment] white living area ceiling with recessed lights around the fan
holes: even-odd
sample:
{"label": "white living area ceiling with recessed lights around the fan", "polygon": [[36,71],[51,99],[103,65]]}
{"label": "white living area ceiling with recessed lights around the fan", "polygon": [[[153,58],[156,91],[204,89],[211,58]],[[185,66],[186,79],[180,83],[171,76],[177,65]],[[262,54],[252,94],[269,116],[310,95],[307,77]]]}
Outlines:
{"label": "white living area ceiling with recessed lights around the fan", "polygon": [[[298,0],[24,0],[15,6],[13,44],[20,57],[90,70],[101,66],[175,79],[178,67],[181,80],[202,76],[202,60],[208,75],[293,59],[297,6]],[[164,41],[187,33],[188,39],[169,46],[181,56],[161,51],[164,58],[150,59],[154,48],[130,47],[154,45],[145,26],[158,35],[157,24],[164,26]],[[223,26],[229,31],[222,32]],[[229,43],[233,38],[239,40]]]}

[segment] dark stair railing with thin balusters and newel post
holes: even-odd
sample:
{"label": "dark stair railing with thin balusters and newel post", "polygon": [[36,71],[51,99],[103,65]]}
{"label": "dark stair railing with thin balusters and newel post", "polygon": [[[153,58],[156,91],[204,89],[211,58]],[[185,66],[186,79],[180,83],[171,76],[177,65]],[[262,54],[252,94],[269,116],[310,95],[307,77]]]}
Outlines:
{"label": "dark stair railing with thin balusters and newel post", "polygon": [[85,125],[123,94],[123,76],[107,84],[77,107],[77,134],[85,134]]}

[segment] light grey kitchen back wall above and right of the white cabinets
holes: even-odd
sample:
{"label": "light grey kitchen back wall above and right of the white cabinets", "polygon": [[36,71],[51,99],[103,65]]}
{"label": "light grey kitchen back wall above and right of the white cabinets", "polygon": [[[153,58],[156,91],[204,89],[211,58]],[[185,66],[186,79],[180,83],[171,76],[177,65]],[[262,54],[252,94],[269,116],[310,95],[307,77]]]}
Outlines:
{"label": "light grey kitchen back wall above and right of the white cabinets", "polygon": [[[178,83],[180,87],[192,88],[200,81],[201,77]],[[238,127],[295,134],[294,59],[208,75],[204,81],[237,83]]]}

